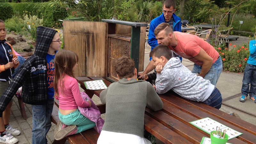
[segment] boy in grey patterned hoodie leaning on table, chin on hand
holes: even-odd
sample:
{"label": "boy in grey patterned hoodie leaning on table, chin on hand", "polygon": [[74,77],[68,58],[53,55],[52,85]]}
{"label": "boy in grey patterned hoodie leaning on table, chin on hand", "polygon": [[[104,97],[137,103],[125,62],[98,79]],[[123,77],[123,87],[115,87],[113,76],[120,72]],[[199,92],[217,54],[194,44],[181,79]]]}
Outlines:
{"label": "boy in grey patterned hoodie leaning on table, chin on hand", "polygon": [[157,45],[149,56],[156,66],[157,93],[162,94],[172,89],[183,98],[220,109],[222,104],[220,91],[209,80],[197,76],[182,65],[178,57],[172,57],[172,52],[166,45]]}

